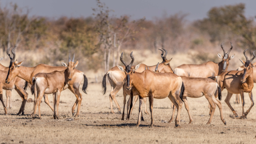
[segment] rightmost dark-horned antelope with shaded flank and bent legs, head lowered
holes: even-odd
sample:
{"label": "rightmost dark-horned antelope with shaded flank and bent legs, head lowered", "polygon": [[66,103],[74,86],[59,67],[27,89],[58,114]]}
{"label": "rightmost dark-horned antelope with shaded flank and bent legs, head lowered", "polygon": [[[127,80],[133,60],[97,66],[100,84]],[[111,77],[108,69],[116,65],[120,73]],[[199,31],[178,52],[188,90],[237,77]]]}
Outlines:
{"label": "rightmost dark-horned antelope with shaded flank and bent legs, head lowered", "polygon": [[[240,93],[242,107],[243,107],[243,113],[241,118],[246,118],[247,114],[250,112],[252,106],[254,105],[254,102],[252,99],[252,88],[253,88],[253,68],[252,67],[253,65],[251,62],[255,58],[255,54],[254,54],[255,51],[252,52],[253,58],[249,60],[245,54],[246,50],[244,50],[244,56],[246,58],[246,61],[239,59],[244,65],[244,70],[226,71],[220,74],[219,76],[216,76],[216,82],[220,85],[221,90],[226,88],[228,91],[228,95],[225,99],[225,102],[227,103],[228,107],[232,110],[233,114],[236,117],[238,117],[238,115],[230,105],[229,100],[232,97],[233,93],[235,94]],[[245,113],[244,113],[244,92],[249,93],[249,97],[252,101],[251,107]]]}

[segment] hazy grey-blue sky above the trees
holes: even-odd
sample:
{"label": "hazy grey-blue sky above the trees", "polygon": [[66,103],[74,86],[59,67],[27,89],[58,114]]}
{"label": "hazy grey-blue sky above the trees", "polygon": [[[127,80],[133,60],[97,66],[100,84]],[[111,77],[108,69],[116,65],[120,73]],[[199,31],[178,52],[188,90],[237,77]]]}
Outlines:
{"label": "hazy grey-blue sky above the trees", "polygon": [[[6,3],[17,3],[19,7],[31,9],[30,16],[46,16],[49,18],[88,17],[92,16],[92,8],[96,8],[95,0],[0,0],[3,6]],[[168,15],[187,13],[187,20],[198,20],[206,17],[213,6],[245,3],[245,15],[256,15],[255,0],[101,0],[109,9],[114,10],[110,15],[131,15],[132,19],[145,17],[152,20],[161,17],[164,12]]]}

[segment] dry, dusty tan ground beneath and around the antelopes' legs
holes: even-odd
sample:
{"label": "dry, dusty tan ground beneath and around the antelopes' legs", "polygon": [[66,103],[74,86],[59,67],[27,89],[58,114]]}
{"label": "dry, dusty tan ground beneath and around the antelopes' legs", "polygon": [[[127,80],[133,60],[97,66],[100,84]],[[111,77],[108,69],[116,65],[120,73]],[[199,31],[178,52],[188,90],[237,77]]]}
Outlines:
{"label": "dry, dusty tan ground beneath and around the antelopes' legs", "polygon": [[[253,94],[256,88],[253,89]],[[28,89],[28,92],[30,90]],[[82,90],[80,90],[81,93]],[[21,98],[12,91],[12,109],[5,116],[4,109],[0,108],[0,130],[2,143],[256,143],[255,106],[248,114],[247,119],[233,119],[229,115],[232,111],[224,102],[227,92],[222,92],[222,107],[227,125],[220,120],[219,109],[216,108],[212,123],[206,125],[209,119],[208,101],[202,97],[188,98],[190,112],[194,124],[188,124],[189,118],[186,109],[181,111],[181,125],[174,128],[174,122],[165,123],[171,118],[172,108],[168,98],[154,100],[155,126],[149,128],[150,116],[144,114],[145,122],[139,128],[134,127],[138,117],[139,102],[133,110],[131,120],[122,121],[121,114],[109,114],[110,105],[108,94],[110,85],[107,85],[107,94],[101,94],[100,84],[89,83],[88,95],[83,93],[83,101],[78,118],[72,117],[71,107],[75,96],[67,89],[61,93],[59,106],[60,120],[54,120],[53,112],[45,104],[41,104],[42,119],[32,120],[28,114],[32,113],[33,103],[27,102],[26,115],[15,115],[21,104]],[[4,91],[5,93],[5,91]],[[29,93],[28,98],[33,98]],[[116,97],[121,108],[123,107],[122,90]],[[4,94],[5,100],[5,94]],[[49,95],[52,103],[52,95]],[[127,97],[128,100],[128,97]],[[231,98],[231,105],[241,116],[241,104],[234,104],[235,95]],[[251,102],[245,94],[245,109]],[[52,103],[53,105],[53,103]],[[114,111],[117,112],[114,104]],[[123,108],[122,108],[123,109]],[[122,110],[121,109],[121,110]],[[147,101],[147,109],[149,106]],[[126,111],[126,110],[125,110]],[[126,113],[126,112],[125,112]],[[67,121],[68,118],[73,121]],[[126,117],[126,116],[125,116]]]}

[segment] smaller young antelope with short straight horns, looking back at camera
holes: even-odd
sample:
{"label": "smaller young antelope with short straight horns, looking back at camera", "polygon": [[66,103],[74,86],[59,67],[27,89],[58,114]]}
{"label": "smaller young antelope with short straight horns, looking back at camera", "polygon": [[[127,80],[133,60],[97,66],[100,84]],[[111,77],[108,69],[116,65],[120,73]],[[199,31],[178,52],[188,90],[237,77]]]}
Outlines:
{"label": "smaller young antelope with short straight horns, looking back at camera", "polygon": [[[75,56],[75,54],[74,54]],[[67,69],[62,71],[53,71],[51,73],[38,73],[36,74],[33,79],[33,84],[31,86],[31,93],[35,94],[37,92],[36,96],[36,103],[34,103],[34,113],[32,118],[35,118],[35,110],[36,110],[36,104],[38,103],[38,117],[41,118],[41,112],[40,112],[40,103],[41,100],[39,98],[42,98],[44,93],[45,94],[51,94],[54,95],[54,119],[59,119],[59,103],[60,103],[60,93],[65,87],[66,84],[68,84],[68,81],[71,81],[75,72],[75,68],[78,64],[74,63],[74,57],[73,60],[70,61],[70,57],[68,60],[68,65],[64,62],[61,62],[63,66],[65,66]],[[35,88],[36,87],[36,88]],[[36,89],[36,91],[35,91]],[[57,94],[57,100],[56,100],[56,94]],[[55,110],[57,104],[57,113]]]}

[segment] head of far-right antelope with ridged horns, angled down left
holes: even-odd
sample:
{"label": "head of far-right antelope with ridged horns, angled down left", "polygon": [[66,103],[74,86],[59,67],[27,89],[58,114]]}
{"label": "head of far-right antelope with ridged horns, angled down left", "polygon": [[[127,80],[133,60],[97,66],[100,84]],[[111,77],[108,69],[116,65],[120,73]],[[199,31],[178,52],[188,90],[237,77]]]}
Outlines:
{"label": "head of far-right antelope with ridged horns, angled down left", "polygon": [[244,50],[244,56],[245,56],[245,58],[246,58],[246,61],[239,59],[239,60],[243,63],[243,65],[244,65],[244,73],[243,73],[243,75],[242,75],[242,77],[241,77],[241,82],[242,82],[242,83],[244,83],[244,82],[246,81],[246,78],[247,78],[248,76],[250,76],[250,75],[252,76],[252,75],[253,75],[252,60],[255,58],[254,52],[255,52],[256,50],[252,52],[253,58],[252,58],[251,60],[249,60],[248,57],[247,57],[246,54],[245,54],[245,52],[246,52],[247,50],[248,50],[248,49]]}

